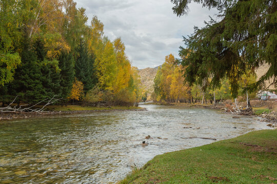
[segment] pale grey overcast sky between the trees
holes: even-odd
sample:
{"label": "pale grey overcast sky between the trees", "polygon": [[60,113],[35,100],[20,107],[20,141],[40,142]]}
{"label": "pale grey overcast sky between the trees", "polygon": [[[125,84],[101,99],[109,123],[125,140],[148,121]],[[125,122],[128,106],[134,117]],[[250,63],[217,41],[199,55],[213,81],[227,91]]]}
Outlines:
{"label": "pale grey overcast sky between the trees", "polygon": [[104,24],[111,40],[121,37],[132,65],[139,69],[161,65],[165,56],[178,56],[183,37],[193,33],[193,27],[203,27],[216,10],[191,3],[187,16],[173,14],[170,0],[76,0],[84,7],[90,24],[96,15]]}

